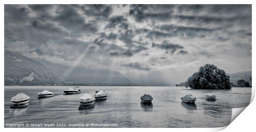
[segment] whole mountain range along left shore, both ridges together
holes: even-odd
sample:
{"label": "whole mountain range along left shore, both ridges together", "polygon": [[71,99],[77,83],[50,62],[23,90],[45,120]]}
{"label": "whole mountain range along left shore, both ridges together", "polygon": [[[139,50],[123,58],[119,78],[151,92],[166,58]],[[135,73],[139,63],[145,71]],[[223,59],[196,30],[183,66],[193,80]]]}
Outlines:
{"label": "whole mountain range along left shore, both ridges together", "polygon": [[5,50],[5,85],[136,85],[118,71],[86,69],[29,59]]}

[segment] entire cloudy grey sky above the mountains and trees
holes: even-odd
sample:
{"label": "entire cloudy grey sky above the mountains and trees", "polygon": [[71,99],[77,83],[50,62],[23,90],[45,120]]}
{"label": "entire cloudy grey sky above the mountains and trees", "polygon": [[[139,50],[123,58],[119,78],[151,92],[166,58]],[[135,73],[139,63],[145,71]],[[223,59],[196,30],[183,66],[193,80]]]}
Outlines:
{"label": "entire cloudy grey sky above the mountains and trees", "polygon": [[5,49],[135,83],[251,71],[251,5],[5,5]]}

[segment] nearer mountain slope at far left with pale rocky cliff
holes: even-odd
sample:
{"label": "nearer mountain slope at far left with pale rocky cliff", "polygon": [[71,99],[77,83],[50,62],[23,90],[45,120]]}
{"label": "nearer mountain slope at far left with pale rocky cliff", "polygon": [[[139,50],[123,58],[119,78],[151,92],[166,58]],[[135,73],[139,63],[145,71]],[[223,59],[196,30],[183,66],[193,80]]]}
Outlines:
{"label": "nearer mountain slope at far left with pale rocky cliff", "polygon": [[5,85],[52,85],[56,75],[38,61],[5,50]]}

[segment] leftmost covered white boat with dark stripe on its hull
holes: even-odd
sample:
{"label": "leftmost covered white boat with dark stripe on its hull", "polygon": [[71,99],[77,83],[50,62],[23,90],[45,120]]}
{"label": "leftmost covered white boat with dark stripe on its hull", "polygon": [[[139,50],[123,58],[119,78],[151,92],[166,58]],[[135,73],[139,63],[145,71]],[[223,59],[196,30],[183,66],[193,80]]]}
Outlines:
{"label": "leftmost covered white boat with dark stripe on its hull", "polygon": [[28,102],[29,102],[29,96],[24,94],[24,93],[19,93],[17,95],[15,95],[14,97],[12,97],[11,101],[12,101],[12,106],[11,108],[14,107],[25,107],[28,106]]}

